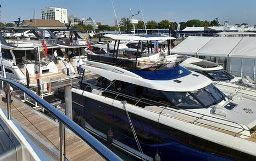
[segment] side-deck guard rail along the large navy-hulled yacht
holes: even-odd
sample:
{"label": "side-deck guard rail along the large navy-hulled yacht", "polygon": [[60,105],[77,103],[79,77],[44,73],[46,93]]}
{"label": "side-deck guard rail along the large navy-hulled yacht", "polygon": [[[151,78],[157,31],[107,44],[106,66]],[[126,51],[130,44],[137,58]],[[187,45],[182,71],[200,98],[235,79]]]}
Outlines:
{"label": "side-deck guard rail along the large navy-hulled yacht", "polygon": [[[130,95],[118,93],[113,90],[97,87],[92,83],[88,83],[84,88],[84,90],[86,91],[92,91],[92,89],[101,90],[101,95],[112,96],[114,100],[118,100],[118,101],[125,100],[135,105],[138,108],[146,108],[147,110],[157,112],[166,117],[179,119],[188,123],[197,124],[200,126],[204,126],[205,128],[211,128],[217,131],[222,131],[223,133],[227,133],[233,136],[241,136],[242,138],[244,138],[244,137],[251,137],[251,135],[249,134],[254,133],[254,131],[244,128],[244,126],[241,124],[232,122],[224,118],[214,117],[207,114],[190,111],[189,107],[186,109],[186,108],[168,105],[162,101],[154,101],[146,98],[138,99],[137,97],[133,97]],[[202,107],[202,108],[207,108],[207,107]],[[209,107],[209,108],[212,108],[212,110],[214,110],[214,107]]]}

